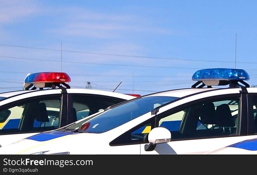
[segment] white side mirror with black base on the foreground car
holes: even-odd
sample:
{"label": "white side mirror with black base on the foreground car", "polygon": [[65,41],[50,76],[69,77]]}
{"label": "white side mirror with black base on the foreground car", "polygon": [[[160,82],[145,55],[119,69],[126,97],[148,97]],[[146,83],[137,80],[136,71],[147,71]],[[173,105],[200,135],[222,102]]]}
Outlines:
{"label": "white side mirror with black base on the foreground car", "polygon": [[156,144],[167,143],[171,141],[171,132],[163,127],[153,128],[148,134],[148,144],[145,145],[145,151],[152,151]]}

